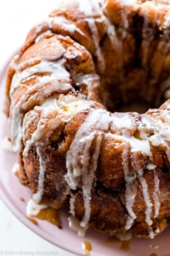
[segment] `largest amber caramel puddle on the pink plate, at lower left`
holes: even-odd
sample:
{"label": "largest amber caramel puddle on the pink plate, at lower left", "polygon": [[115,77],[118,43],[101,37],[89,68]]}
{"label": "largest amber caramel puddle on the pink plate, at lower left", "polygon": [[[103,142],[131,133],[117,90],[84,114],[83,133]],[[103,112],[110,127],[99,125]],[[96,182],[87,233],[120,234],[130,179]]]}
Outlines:
{"label": "largest amber caramel puddle on the pink plate, at lower left", "polygon": [[45,208],[41,209],[40,213],[36,216],[36,218],[40,218],[40,220],[46,220],[53,225],[57,225],[58,228],[61,228],[61,219],[59,216],[59,211],[54,208]]}

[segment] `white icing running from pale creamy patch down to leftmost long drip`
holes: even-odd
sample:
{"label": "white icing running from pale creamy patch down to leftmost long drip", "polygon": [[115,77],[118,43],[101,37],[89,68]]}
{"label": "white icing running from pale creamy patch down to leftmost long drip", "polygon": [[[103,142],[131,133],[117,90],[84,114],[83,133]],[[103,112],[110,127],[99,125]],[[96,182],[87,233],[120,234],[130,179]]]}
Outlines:
{"label": "white icing running from pale creamy patch down to leftmost long drip", "polygon": [[[63,116],[63,119],[69,121],[71,117],[80,110],[84,108],[89,108],[91,106],[91,101],[82,100],[82,98],[75,97],[73,95],[62,96],[60,95],[59,99],[49,98],[45,100],[41,106],[36,106],[31,112],[28,112],[23,121],[23,139],[25,138],[24,131],[28,129],[28,126],[36,118],[37,113],[40,113],[40,120],[37,123],[37,128],[35,132],[31,135],[31,138],[25,142],[25,148],[23,150],[23,155],[27,156],[29,148],[32,144],[35,144],[37,149],[37,154],[39,155],[40,163],[40,173],[39,173],[39,185],[37,192],[33,195],[32,199],[35,203],[40,203],[44,191],[44,175],[46,171],[46,160],[41,154],[41,138],[45,138],[48,141],[48,138],[53,133],[54,130],[60,125],[61,120],[55,119],[55,121],[49,123],[49,119],[46,118],[54,110],[58,110],[59,115]],[[62,106],[64,109],[62,109]],[[65,114],[66,112],[66,114]],[[46,129],[46,123],[48,123],[48,129]],[[95,157],[95,154],[94,154]],[[96,168],[94,166],[94,168]]]}

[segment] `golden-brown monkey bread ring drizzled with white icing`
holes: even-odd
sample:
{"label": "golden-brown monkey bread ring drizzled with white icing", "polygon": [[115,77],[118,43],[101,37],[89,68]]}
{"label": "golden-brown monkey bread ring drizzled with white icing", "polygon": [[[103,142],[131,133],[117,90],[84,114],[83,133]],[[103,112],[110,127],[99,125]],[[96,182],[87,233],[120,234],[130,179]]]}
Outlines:
{"label": "golden-brown monkey bread ring drizzled with white icing", "polygon": [[[170,217],[170,7],[69,0],[11,61],[6,113],[33,201],[154,238]],[[121,113],[145,102],[145,114]],[[117,112],[116,112],[117,111]]]}

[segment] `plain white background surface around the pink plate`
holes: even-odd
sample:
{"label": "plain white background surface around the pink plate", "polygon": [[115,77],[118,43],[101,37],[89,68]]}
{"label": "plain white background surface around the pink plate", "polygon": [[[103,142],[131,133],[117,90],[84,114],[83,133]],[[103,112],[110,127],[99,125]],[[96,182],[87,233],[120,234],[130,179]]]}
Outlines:
{"label": "plain white background surface around the pink plate", "polygon": [[[29,28],[45,17],[58,2],[0,1],[0,67],[22,45]],[[10,213],[1,200],[0,227],[0,255],[74,255],[34,234]]]}

